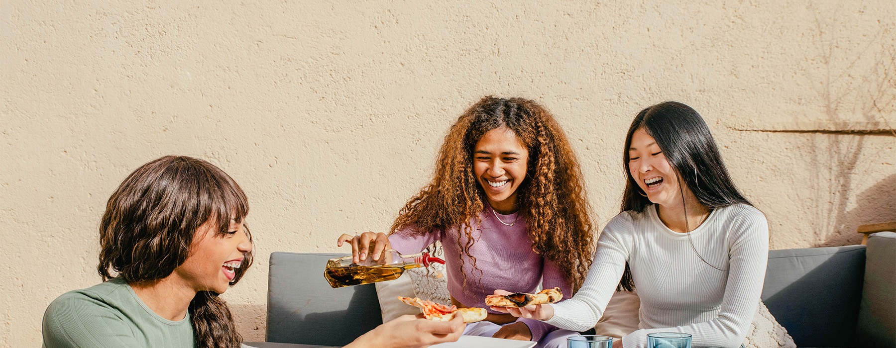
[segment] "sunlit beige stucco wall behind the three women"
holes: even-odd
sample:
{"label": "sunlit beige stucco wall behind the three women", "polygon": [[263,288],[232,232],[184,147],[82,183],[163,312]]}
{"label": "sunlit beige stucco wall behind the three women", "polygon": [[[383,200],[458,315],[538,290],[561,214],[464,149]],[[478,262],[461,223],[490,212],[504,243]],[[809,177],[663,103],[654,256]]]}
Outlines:
{"label": "sunlit beige stucco wall behind the three women", "polygon": [[486,94],[556,114],[601,225],[628,123],[667,99],[710,124],[773,249],[896,220],[896,134],[837,133],[896,126],[896,3],[655,3],[0,2],[0,346],[39,347],[49,301],[99,282],[108,195],[165,154],[248,193],[260,257],[225,296],[263,340],[267,255],[384,231]]}

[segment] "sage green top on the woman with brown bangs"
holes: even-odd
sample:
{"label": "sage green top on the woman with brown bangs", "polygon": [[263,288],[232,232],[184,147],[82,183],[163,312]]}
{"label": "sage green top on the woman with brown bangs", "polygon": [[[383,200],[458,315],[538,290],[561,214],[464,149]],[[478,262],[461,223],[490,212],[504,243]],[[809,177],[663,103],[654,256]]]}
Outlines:
{"label": "sage green top on the woman with brown bangs", "polygon": [[44,313],[45,348],[194,348],[190,315],[159,317],[122,279],[64,293]]}

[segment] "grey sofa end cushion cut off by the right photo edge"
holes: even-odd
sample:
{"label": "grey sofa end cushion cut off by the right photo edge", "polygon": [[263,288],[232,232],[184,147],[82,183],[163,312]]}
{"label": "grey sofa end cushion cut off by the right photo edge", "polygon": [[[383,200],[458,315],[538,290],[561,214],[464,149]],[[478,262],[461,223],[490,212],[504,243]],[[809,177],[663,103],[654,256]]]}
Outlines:
{"label": "grey sofa end cushion cut off by the right photo edge", "polygon": [[868,238],[865,291],[858,310],[858,347],[896,347],[896,233]]}

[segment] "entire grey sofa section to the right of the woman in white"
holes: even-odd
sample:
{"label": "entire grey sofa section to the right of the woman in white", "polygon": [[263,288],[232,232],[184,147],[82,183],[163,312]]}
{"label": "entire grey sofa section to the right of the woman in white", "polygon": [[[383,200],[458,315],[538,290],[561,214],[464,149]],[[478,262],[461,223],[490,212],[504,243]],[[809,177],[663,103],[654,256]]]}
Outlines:
{"label": "entire grey sofa section to the right of the woman in white", "polygon": [[896,347],[896,233],[771,250],[762,301],[798,347]]}

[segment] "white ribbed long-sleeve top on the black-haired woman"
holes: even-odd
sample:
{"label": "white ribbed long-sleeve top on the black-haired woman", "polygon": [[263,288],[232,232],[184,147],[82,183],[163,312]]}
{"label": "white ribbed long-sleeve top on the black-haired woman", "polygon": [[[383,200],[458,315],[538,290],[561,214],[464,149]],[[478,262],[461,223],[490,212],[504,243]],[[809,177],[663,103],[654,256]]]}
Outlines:
{"label": "white ribbed long-sleeve top on the black-haired woman", "polygon": [[739,347],[759,303],[768,254],[768,222],[745,204],[714,209],[690,233],[663,225],[656,205],[626,211],[601,233],[582,289],[554,304],[554,317],[546,321],[576,331],[594,327],[627,261],[641,298],[641,323],[622,338],[625,348],[647,347],[647,334],[654,332],[691,334],[695,347]]}

